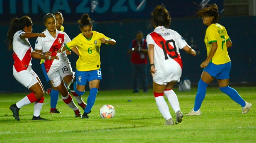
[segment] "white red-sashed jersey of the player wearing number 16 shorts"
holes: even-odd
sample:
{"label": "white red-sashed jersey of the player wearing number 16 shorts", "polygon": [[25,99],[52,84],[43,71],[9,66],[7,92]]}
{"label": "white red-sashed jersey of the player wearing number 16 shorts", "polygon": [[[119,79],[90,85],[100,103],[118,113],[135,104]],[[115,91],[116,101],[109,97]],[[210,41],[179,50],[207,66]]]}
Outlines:
{"label": "white red-sashed jersey of the player wearing number 16 shorts", "polygon": [[69,36],[62,31],[56,30],[56,37],[54,38],[49,31],[46,29],[44,32],[46,37],[38,37],[35,41],[35,49],[42,50],[42,52],[51,51],[52,56],[57,55],[59,60],[45,60],[46,72],[55,72],[59,70],[63,64],[69,62],[66,52],[56,53],[64,44],[71,41]]}

